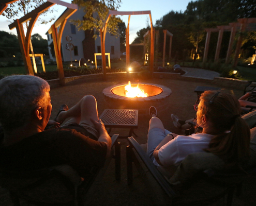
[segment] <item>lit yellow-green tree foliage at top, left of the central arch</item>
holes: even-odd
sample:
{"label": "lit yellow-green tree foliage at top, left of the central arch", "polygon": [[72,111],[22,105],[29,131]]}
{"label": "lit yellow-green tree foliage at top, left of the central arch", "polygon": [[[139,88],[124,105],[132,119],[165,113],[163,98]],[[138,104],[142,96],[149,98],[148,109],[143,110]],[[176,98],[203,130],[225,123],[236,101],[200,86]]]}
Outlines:
{"label": "lit yellow-green tree foliage at top, left of the central arch", "polygon": [[[83,8],[85,15],[84,20],[71,20],[73,24],[78,27],[78,30],[91,30],[94,31],[94,38],[97,38],[96,33],[100,31],[104,21],[107,18],[109,10],[116,10],[121,4],[121,0],[74,0],[74,4],[78,4],[80,8]],[[108,22],[107,31],[114,36],[118,36],[118,23],[121,23],[120,18],[116,18],[111,15]]]}

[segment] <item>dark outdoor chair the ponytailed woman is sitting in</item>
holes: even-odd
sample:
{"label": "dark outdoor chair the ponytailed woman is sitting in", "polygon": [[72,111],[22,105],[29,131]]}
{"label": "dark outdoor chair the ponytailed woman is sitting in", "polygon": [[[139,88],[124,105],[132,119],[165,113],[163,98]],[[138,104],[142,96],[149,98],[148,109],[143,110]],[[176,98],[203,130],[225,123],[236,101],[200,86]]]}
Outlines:
{"label": "dark outdoor chair the ponytailed woman is sitting in", "polygon": [[[169,178],[153,164],[141,145],[128,138],[127,181],[133,182],[133,163],[145,184],[152,188],[154,204],[168,205],[208,205],[224,201],[232,205],[236,188],[239,195],[242,182],[247,174],[222,174],[224,162],[212,153],[194,153],[187,156]],[[145,144],[143,146],[145,148]],[[161,168],[161,167],[160,167]]]}

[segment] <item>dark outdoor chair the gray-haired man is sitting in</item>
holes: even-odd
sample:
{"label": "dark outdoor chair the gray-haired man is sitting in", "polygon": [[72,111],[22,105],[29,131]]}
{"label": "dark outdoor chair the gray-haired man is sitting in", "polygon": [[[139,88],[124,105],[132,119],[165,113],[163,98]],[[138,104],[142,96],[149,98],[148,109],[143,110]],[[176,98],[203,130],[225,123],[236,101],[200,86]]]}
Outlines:
{"label": "dark outdoor chair the gray-haired man is sitting in", "polygon": [[[121,149],[118,135],[112,140],[112,157],[115,158],[115,178],[121,178]],[[36,205],[83,205],[83,199],[96,178],[103,176],[111,158],[103,168],[93,168],[90,179],[83,180],[69,165],[58,165],[34,171],[6,171],[0,169],[0,185],[10,193],[13,205],[21,201]]]}

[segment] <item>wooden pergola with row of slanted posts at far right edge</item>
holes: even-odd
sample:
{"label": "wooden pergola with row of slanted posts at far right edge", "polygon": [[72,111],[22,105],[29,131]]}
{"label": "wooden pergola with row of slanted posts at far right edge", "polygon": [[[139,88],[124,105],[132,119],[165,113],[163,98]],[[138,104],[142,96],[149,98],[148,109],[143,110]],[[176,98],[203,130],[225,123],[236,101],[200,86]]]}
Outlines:
{"label": "wooden pergola with row of slanted posts at far right edge", "polygon": [[245,19],[238,19],[237,22],[229,23],[229,25],[217,26],[217,28],[206,28],[205,30],[207,31],[207,36],[206,36],[206,41],[205,41],[203,61],[205,62],[207,60],[208,50],[209,50],[210,33],[211,32],[219,32],[217,48],[216,48],[216,53],[215,53],[215,58],[214,58],[214,62],[217,63],[219,61],[219,54],[220,54],[220,49],[221,49],[223,32],[231,31],[229,47],[228,47],[227,56],[225,59],[225,63],[229,63],[230,57],[232,54],[232,46],[233,46],[233,43],[235,40],[236,31],[239,30],[239,37],[238,37],[238,41],[236,43],[235,57],[234,57],[234,61],[233,61],[233,66],[235,67],[238,63],[240,48],[241,48],[242,42],[243,42],[243,32],[255,31],[256,30],[255,24],[256,24],[256,18],[245,18]]}

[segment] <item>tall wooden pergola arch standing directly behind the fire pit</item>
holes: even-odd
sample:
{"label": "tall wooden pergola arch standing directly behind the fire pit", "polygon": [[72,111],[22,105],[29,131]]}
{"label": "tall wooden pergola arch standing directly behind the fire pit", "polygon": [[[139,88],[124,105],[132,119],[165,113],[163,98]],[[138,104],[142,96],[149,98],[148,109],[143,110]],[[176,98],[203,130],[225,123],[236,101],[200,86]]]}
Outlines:
{"label": "tall wooden pergola arch standing directly behind the fire pit", "polygon": [[150,19],[150,34],[151,34],[151,44],[150,44],[150,65],[149,70],[150,74],[153,75],[153,64],[154,64],[154,29],[152,23],[152,16],[150,11],[116,11],[110,10],[107,18],[100,28],[100,40],[101,40],[101,58],[102,58],[102,70],[103,70],[103,79],[107,78],[107,71],[106,71],[106,56],[105,56],[105,39],[106,39],[106,32],[107,32],[107,25],[111,15],[129,15],[128,17],[128,24],[126,29],[126,66],[127,66],[127,74],[129,75],[128,67],[130,65],[130,45],[129,45],[129,25],[130,25],[130,18],[131,15],[143,15],[149,14]]}

